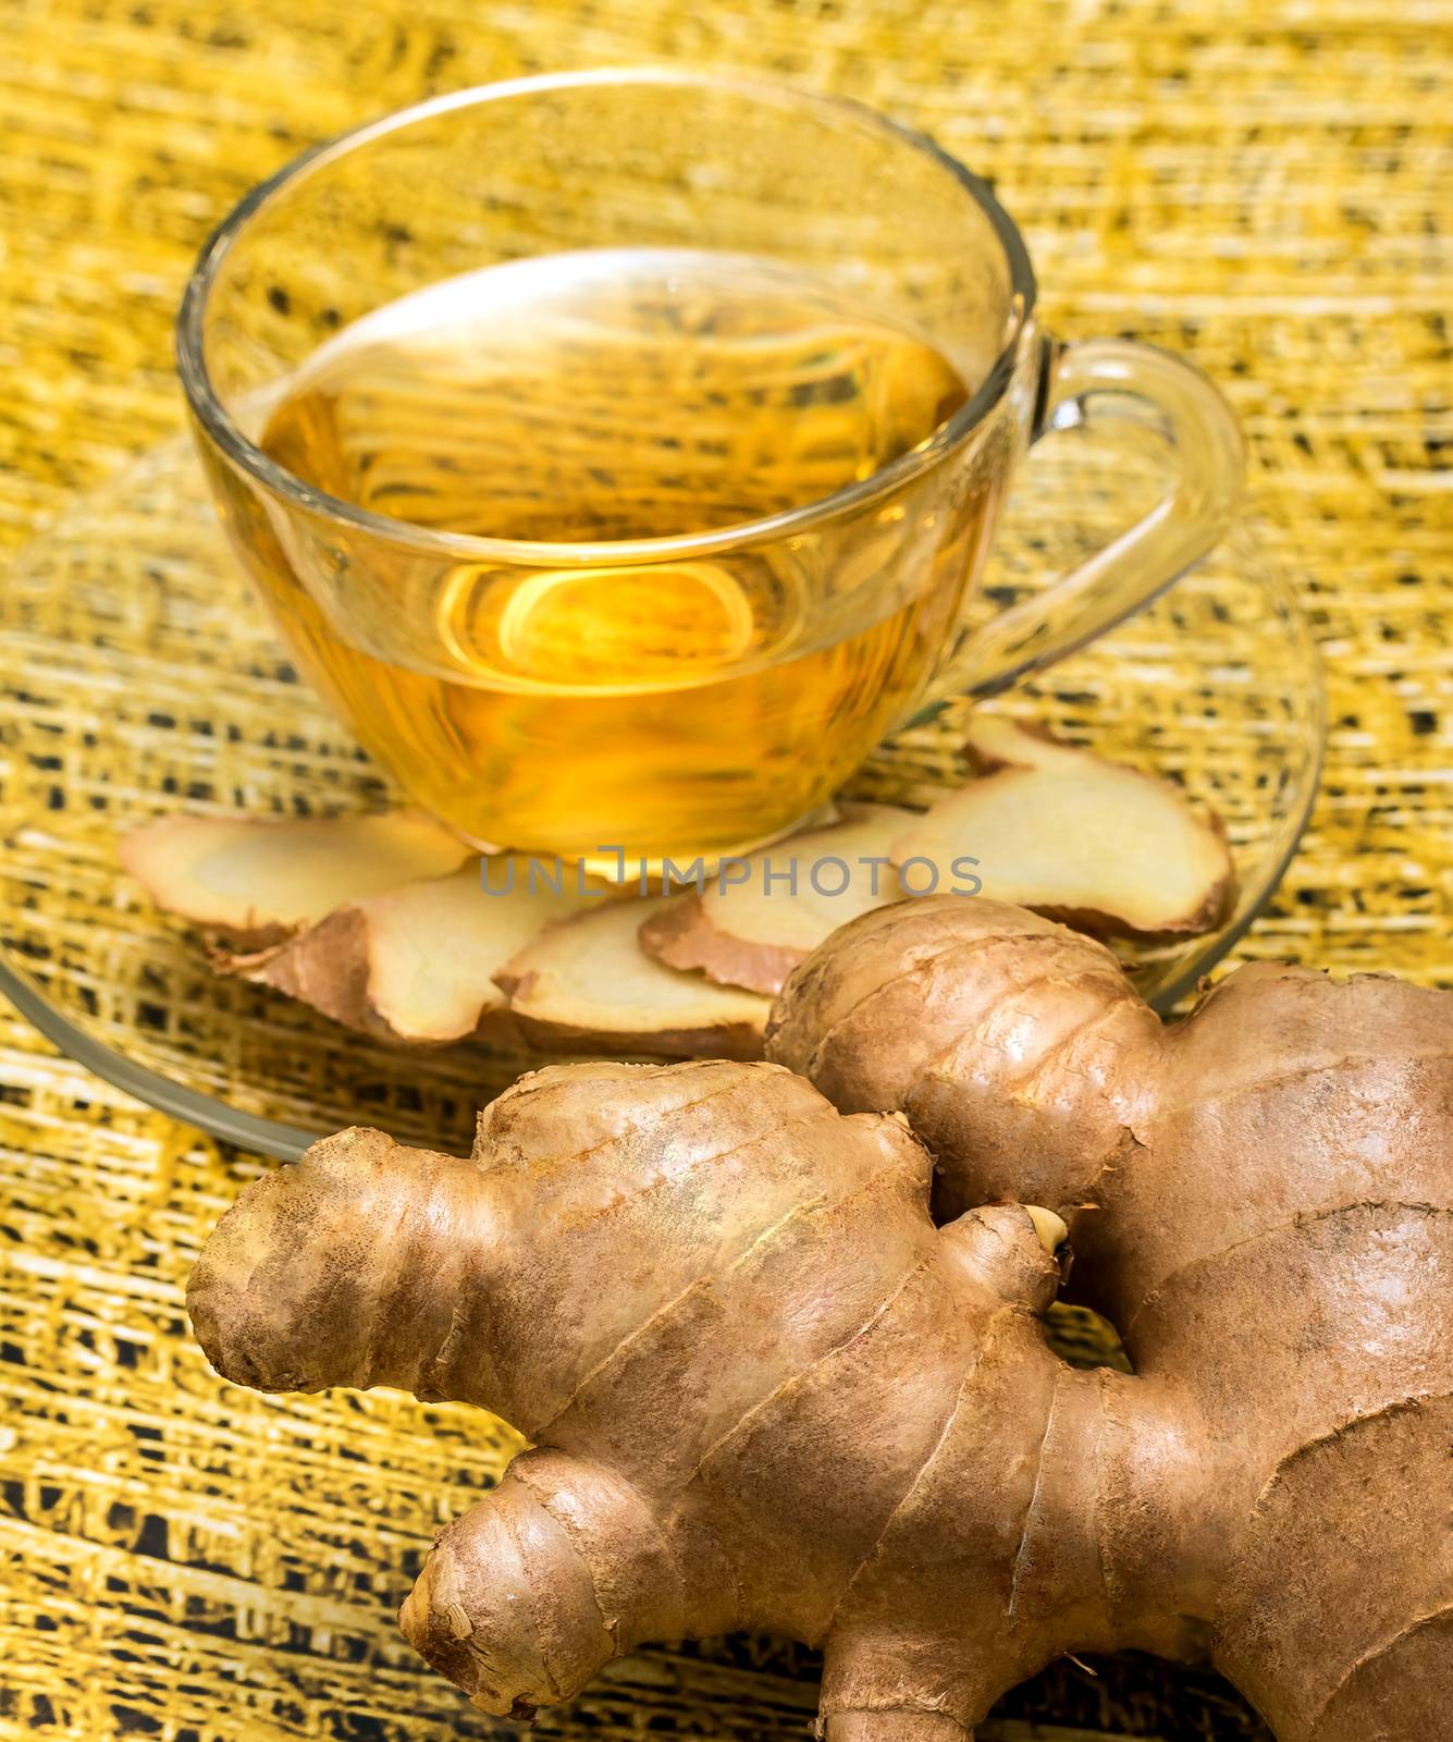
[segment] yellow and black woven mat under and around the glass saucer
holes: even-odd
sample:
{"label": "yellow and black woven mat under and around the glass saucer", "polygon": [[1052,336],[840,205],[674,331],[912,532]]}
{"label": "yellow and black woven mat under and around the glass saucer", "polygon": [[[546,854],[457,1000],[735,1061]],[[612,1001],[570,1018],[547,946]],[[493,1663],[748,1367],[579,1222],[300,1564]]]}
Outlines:
{"label": "yellow and black woven mat under and around the glass saucer", "polygon": [[[1058,331],[1190,350],[1246,423],[1333,737],[1242,953],[1453,982],[1441,0],[0,0],[0,33],[7,547],[178,427],[193,249],[321,134],[646,57],[770,70],[930,129],[997,178]],[[509,1435],[390,1395],[260,1401],[186,1336],[186,1268],[256,1167],[0,1012],[0,1739],[500,1728],[411,1658],[392,1610]],[[1258,1735],[1211,1678],[1092,1667],[984,1735]],[[542,1728],[801,1737],[812,1704],[803,1653],[744,1639],[641,1653]]]}

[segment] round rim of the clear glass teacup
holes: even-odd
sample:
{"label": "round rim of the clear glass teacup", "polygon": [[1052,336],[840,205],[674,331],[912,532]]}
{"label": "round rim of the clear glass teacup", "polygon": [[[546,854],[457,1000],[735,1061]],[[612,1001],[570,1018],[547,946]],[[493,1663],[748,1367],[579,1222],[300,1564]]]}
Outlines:
{"label": "round rim of the clear glass teacup", "polygon": [[[453,110],[477,108],[484,103],[497,103],[507,98],[530,96],[531,92],[627,84],[702,85],[735,92],[758,103],[775,105],[777,108],[821,110],[838,124],[847,122],[864,132],[887,136],[922,153],[946,174],[953,176],[970,195],[988,218],[995,239],[1004,249],[1009,265],[1012,312],[1004,347],[993,368],[974,394],[927,441],[899,455],[897,460],[892,460],[869,477],[843,484],[828,496],[819,496],[814,502],[805,502],[794,509],[784,509],[760,519],[737,521],[730,526],[716,526],[702,533],[674,533],[660,538],[552,544],[549,540],[486,538],[474,533],[436,531],[427,526],[415,526],[409,521],[392,519],[385,514],[373,514],[369,509],[345,502],[341,496],[331,496],[322,490],[315,490],[268,458],[256,442],[244,436],[213,387],[204,348],[204,324],[216,275],[232,246],[244,235],[253,218],[279,195],[286,193],[293,183],[326,169],[359,146],[409,127],[418,120],[448,115]],[[408,545],[409,549],[453,561],[510,561],[526,564],[559,563],[561,559],[580,564],[620,563],[622,559],[653,561],[678,556],[702,556],[742,544],[777,538],[782,533],[801,531],[819,521],[833,519],[845,510],[864,507],[878,496],[892,495],[913,477],[929,472],[960,448],[988,411],[1004,397],[1014,371],[1019,341],[1035,308],[1035,300],[1033,267],[1030,265],[1024,239],[1019,235],[1014,219],[998,204],[990,185],[981,176],[965,169],[958,159],[944,152],[929,134],[904,127],[901,122],[890,120],[887,115],[880,115],[876,110],[852,98],[798,91],[793,85],[772,80],[737,78],[730,73],[693,73],[667,66],[592,68],[575,73],[538,73],[528,78],[507,78],[497,84],[472,85],[465,91],[451,91],[444,96],[394,110],[390,115],[364,122],[361,127],[352,127],[284,164],[274,176],[260,181],[258,186],[246,193],[204,244],[183,293],[176,319],[176,362],[188,404],[207,439],[216,444],[233,467],[247,472],[274,496],[280,496],[284,502],[307,512],[341,521],[375,538],[387,538],[390,544]]]}

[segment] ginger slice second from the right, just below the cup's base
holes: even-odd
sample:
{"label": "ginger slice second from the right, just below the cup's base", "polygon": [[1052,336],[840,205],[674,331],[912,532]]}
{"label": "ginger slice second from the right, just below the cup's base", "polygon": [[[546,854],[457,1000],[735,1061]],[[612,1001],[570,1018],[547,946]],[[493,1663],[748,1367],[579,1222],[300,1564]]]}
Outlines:
{"label": "ginger slice second from the right, just below the cup's base", "polygon": [[895,805],[843,805],[841,822],[728,862],[706,888],[657,908],[641,923],[641,948],[723,986],[779,993],[840,925],[901,899],[889,850],[913,822]]}

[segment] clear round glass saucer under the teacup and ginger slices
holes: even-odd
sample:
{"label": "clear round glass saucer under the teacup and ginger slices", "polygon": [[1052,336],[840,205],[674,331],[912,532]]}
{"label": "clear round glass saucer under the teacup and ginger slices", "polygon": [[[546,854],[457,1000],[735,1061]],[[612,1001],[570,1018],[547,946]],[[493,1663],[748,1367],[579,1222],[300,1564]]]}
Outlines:
{"label": "clear round glass saucer under the teacup and ginger slices", "polygon": [[[983,613],[1033,592],[1155,490],[1091,432],[1021,467]],[[1132,500],[1134,498],[1134,500]],[[1150,498],[1153,500],[1153,496]],[[969,624],[972,632],[972,620]],[[990,706],[1183,780],[1240,880],[1214,935],[1127,951],[1171,1009],[1242,935],[1296,848],[1324,735],[1307,625],[1249,521],[1162,598]],[[963,777],[969,704],[880,747],[852,793],[927,801]],[[0,991],[57,1047],[190,1125],[275,1157],[347,1124],[467,1150],[476,1110],[538,1054],[389,1047],[218,977],[118,871],[174,810],[312,815],[399,794],[298,681],[178,439],[80,500],[0,585]]]}

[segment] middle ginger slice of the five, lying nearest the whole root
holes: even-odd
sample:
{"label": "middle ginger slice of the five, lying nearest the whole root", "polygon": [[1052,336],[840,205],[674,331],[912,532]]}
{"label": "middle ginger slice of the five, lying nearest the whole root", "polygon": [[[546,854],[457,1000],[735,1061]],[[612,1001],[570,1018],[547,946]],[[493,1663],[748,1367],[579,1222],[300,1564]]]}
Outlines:
{"label": "middle ginger slice of the five, lying nearest the whole root", "polygon": [[645,955],[636,932],[681,897],[613,901],[551,925],[497,976],[531,1045],[761,1057],[772,1000]]}

